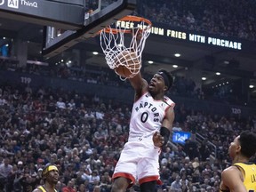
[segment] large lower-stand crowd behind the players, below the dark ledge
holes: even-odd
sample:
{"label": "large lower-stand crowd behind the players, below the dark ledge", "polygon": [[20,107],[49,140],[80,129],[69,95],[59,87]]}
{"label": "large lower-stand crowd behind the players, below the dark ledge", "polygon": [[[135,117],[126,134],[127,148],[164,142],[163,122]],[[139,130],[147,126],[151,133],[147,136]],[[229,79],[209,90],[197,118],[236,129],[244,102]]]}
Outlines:
{"label": "large lower-stand crowd behind the players, below the dark ledge", "polygon": [[[58,191],[110,191],[111,175],[128,137],[131,107],[79,92],[2,84],[1,188],[31,191],[42,184],[44,164],[52,163],[60,169]],[[245,129],[255,132],[256,116],[210,116],[179,105],[175,113],[173,130],[200,132],[205,140],[174,145],[170,138],[160,156],[164,185],[157,190],[217,191],[220,172],[230,164],[229,142]],[[217,147],[215,159],[208,140]],[[129,191],[138,190],[135,185]]]}

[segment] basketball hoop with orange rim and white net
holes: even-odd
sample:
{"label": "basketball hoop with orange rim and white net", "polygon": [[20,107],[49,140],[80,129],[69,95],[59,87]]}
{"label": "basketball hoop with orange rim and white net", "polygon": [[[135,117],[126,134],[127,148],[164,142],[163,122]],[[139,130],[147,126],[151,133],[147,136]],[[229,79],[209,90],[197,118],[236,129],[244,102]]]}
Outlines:
{"label": "basketball hoop with orange rim and white net", "polygon": [[[150,34],[151,26],[150,20],[128,15],[121,20],[117,20],[115,24],[100,30],[100,46],[109,68],[125,66],[131,72],[131,75],[126,76],[126,78],[138,74],[141,68],[141,54]],[[131,52],[132,60],[129,60],[129,65],[127,65],[127,61],[124,62],[125,58],[122,58],[123,52],[125,52],[126,57],[127,52]],[[140,63],[139,68],[138,63]],[[134,65],[138,70],[134,70]]]}

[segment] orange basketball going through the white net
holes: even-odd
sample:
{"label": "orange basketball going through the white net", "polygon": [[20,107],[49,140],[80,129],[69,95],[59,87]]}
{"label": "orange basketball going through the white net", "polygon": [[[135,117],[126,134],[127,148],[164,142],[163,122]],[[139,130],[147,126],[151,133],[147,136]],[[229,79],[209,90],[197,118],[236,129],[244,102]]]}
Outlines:
{"label": "orange basketball going through the white net", "polygon": [[131,78],[140,72],[140,57],[135,52],[123,51],[116,56],[115,65],[118,76]]}

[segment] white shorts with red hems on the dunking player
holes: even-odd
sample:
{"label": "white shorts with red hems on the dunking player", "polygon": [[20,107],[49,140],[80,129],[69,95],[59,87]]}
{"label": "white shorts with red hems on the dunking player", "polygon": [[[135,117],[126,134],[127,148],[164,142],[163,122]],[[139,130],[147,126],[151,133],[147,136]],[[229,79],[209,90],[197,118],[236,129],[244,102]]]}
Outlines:
{"label": "white shorts with red hems on the dunking player", "polygon": [[121,156],[116,164],[113,179],[124,177],[139,184],[159,180],[159,155],[161,148],[154,146],[152,135],[149,137],[129,138],[125,143]]}

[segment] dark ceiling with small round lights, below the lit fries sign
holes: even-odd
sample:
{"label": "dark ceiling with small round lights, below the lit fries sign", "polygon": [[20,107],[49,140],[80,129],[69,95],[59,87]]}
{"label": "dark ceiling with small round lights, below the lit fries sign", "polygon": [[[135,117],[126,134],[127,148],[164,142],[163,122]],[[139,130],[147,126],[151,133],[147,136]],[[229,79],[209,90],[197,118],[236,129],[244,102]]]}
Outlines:
{"label": "dark ceiling with small round lights, below the lit fries sign", "polygon": [[[8,43],[8,39],[20,38],[28,42],[28,59],[44,62],[58,63],[60,60],[70,60],[72,50],[79,49],[86,52],[86,63],[100,67],[107,64],[100,50],[99,41],[95,38],[76,44],[71,49],[55,56],[50,60],[44,60],[41,51],[43,47],[43,26],[0,18],[1,45]],[[5,39],[4,39],[5,37]],[[255,43],[256,45],[256,43]],[[256,46],[254,46],[256,47]],[[100,52],[93,55],[92,52]],[[179,58],[175,53],[180,53]],[[256,92],[256,52],[237,52],[221,49],[220,47],[203,46],[200,44],[188,44],[186,42],[161,40],[157,36],[150,35],[142,56],[145,71],[154,72],[158,68],[167,68],[173,74],[198,78],[206,77],[202,81],[205,86],[215,86],[221,82],[236,81],[240,78],[249,78],[254,85],[251,92]],[[154,61],[149,64],[148,60]],[[212,63],[214,60],[214,63]],[[177,65],[177,68],[173,68]],[[194,72],[191,72],[194,71]],[[195,71],[197,71],[195,73]],[[215,73],[220,72],[220,76]],[[255,94],[255,93],[254,93]]]}

